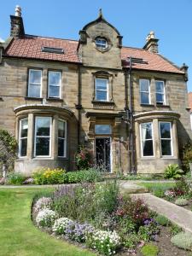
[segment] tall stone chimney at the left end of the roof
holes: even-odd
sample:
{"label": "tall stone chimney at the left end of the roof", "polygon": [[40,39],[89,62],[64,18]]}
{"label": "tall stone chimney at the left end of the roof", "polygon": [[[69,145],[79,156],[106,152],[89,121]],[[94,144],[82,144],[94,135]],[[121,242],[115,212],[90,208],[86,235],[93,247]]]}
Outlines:
{"label": "tall stone chimney at the left end of the roof", "polygon": [[20,36],[25,35],[23,19],[21,17],[21,8],[19,5],[16,5],[15,15],[10,15],[10,20],[11,20],[10,36],[14,38],[20,38]]}

